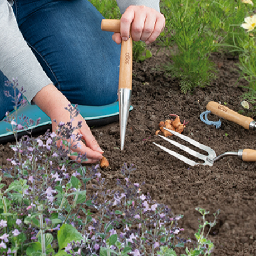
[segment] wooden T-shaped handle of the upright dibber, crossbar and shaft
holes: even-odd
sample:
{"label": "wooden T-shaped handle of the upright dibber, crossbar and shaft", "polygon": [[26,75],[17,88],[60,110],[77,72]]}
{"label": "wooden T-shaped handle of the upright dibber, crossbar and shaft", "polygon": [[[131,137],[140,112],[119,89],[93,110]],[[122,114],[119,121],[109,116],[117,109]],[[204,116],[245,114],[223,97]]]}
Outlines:
{"label": "wooden T-shaped handle of the upright dibber, crossbar and shaft", "polygon": [[[110,32],[120,32],[120,21],[117,19],[102,19],[101,29]],[[132,37],[121,43],[119,89],[132,89]]]}

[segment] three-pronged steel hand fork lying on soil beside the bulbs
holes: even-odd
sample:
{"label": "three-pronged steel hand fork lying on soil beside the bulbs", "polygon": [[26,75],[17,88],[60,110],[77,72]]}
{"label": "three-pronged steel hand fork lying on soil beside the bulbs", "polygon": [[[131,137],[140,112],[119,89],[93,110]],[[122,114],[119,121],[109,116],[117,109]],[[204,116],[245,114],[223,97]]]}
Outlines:
{"label": "three-pronged steel hand fork lying on soil beside the bulbs", "polygon": [[166,128],[164,128],[164,129],[166,131],[171,132],[171,134],[179,137],[180,139],[183,139],[183,140],[189,142],[190,144],[194,145],[195,147],[198,147],[199,149],[204,150],[208,153],[208,155],[200,154],[199,152],[197,152],[193,149],[190,149],[190,147],[180,144],[174,140],[168,139],[164,136],[158,135],[161,138],[163,138],[164,140],[173,144],[174,146],[179,147],[179,149],[182,149],[183,151],[188,152],[190,155],[195,156],[196,158],[204,161],[203,163],[195,162],[195,161],[189,159],[188,157],[180,155],[173,150],[170,150],[164,146],[161,146],[161,145],[153,142],[156,146],[160,147],[160,149],[164,150],[165,152],[168,152],[170,155],[175,156],[176,158],[180,159],[181,161],[184,161],[184,163],[189,164],[191,166],[195,166],[195,165],[199,165],[199,164],[213,166],[213,163],[215,161],[218,161],[219,159],[221,159],[225,156],[238,156],[239,159],[242,159],[243,161],[247,161],[247,162],[255,162],[256,161],[256,150],[240,149],[240,150],[238,150],[238,152],[225,152],[219,156],[216,156],[215,151],[213,149],[211,149],[210,147],[205,146],[205,145],[199,143],[198,141],[191,139],[190,137],[179,134],[179,132],[172,131],[172,130],[169,130]]}

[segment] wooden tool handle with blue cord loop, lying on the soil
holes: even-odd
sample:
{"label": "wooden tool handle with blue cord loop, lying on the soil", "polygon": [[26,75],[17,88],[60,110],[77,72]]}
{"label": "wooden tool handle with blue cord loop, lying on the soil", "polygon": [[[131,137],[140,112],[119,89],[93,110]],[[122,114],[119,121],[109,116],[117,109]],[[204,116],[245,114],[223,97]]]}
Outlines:
{"label": "wooden tool handle with blue cord loop, lying on the soil", "polygon": [[206,109],[210,110],[216,116],[223,117],[229,121],[249,130],[250,122],[254,121],[252,118],[238,114],[237,112],[225,107],[217,102],[210,101],[206,105]]}

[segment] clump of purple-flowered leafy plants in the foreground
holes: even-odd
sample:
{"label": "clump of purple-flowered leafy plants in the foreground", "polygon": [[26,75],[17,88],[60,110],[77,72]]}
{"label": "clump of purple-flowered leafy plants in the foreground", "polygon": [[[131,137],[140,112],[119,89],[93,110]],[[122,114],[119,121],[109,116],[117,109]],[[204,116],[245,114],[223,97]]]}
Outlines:
{"label": "clump of purple-flowered leafy plants in the foreground", "polygon": [[[18,106],[23,100],[17,96],[14,101]],[[76,106],[66,110],[71,120],[78,114]],[[6,120],[13,123],[17,136],[21,124],[15,113],[7,113]],[[123,178],[111,191],[99,165],[86,169],[81,164],[86,156],[72,151],[81,139],[73,135],[75,128],[72,121],[60,123],[56,133],[27,135],[11,145],[12,167],[2,168],[0,178],[1,255],[175,256],[178,248],[184,250],[181,255],[211,254],[208,235],[219,213],[208,222],[208,212],[197,208],[202,221],[195,242],[183,238],[184,229],[178,225],[182,216],[173,215],[168,206],[142,192],[143,184],[130,180],[134,166],[122,166]],[[77,159],[71,160],[71,155]]]}

